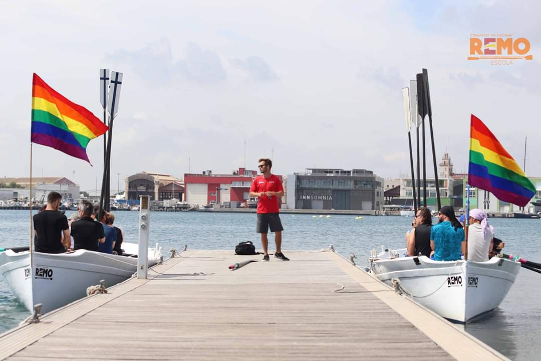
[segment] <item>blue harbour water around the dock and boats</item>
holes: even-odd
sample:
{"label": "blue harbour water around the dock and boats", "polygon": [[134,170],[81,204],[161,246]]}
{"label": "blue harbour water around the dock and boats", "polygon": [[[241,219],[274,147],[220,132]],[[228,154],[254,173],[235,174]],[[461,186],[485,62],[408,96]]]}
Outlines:
{"label": "blue harbour water around the dock and boats", "polygon": [[[70,214],[70,211],[67,212]],[[116,212],[115,225],[121,227],[127,241],[137,241],[138,212]],[[282,214],[283,249],[319,250],[333,244],[342,255],[354,252],[364,260],[371,248],[381,245],[403,248],[404,234],[411,218],[400,216],[333,215],[312,218],[312,215]],[[0,210],[0,247],[28,244],[29,211]],[[541,262],[539,227],[541,221],[530,219],[491,219],[496,235],[505,241],[505,253],[513,253]],[[273,244],[270,237],[269,244]],[[230,249],[240,241],[252,240],[259,247],[255,234],[255,214],[212,212],[154,212],[150,219],[150,241],[159,242],[164,255],[170,248]],[[272,246],[269,247],[272,251]],[[233,251],[232,251],[233,252]],[[541,355],[541,274],[523,268],[499,309],[468,324],[465,329],[513,360],[535,360]],[[13,296],[4,279],[0,279],[0,332],[16,326],[28,311]],[[459,326],[464,327],[464,326]]]}

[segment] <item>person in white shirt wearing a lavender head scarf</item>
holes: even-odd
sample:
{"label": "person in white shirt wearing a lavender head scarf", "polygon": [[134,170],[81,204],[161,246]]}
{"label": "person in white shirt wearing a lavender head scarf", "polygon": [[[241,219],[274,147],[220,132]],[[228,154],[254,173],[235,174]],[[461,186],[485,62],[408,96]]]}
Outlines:
{"label": "person in white shirt wearing a lavender head scarf", "polygon": [[478,208],[470,211],[468,229],[468,260],[484,262],[492,251],[494,228],[489,225],[486,214]]}

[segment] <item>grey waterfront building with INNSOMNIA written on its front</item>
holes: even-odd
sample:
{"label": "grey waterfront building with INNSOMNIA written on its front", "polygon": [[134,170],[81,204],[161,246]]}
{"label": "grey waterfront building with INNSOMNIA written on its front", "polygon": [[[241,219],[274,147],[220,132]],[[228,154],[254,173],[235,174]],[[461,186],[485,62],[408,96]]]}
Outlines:
{"label": "grey waterfront building with INNSOMNIA written on its front", "polygon": [[384,179],[366,169],[306,169],[287,176],[287,208],[376,211]]}

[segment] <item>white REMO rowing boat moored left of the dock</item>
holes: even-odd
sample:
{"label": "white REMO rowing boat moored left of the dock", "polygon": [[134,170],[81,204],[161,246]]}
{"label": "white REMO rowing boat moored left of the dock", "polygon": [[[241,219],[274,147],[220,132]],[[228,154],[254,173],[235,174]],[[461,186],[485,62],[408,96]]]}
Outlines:
{"label": "white REMO rowing boat moored left of the dock", "polygon": [[[156,245],[157,247],[157,245]],[[126,254],[137,254],[138,245],[124,242]],[[161,260],[161,248],[149,248],[148,266]],[[87,250],[69,253],[0,252],[0,274],[11,291],[29,311],[42,304],[47,313],[87,296],[87,287],[100,284],[110,287],[137,272],[137,258]]]}

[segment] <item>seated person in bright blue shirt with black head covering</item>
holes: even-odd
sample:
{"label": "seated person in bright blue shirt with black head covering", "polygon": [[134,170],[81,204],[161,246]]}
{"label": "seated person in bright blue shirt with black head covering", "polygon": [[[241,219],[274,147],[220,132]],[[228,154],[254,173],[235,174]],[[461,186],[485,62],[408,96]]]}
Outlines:
{"label": "seated person in bright blue shirt with black head covering", "polygon": [[464,228],[454,216],[451,206],[441,207],[439,223],[430,230],[431,256],[437,261],[456,261],[464,253]]}

